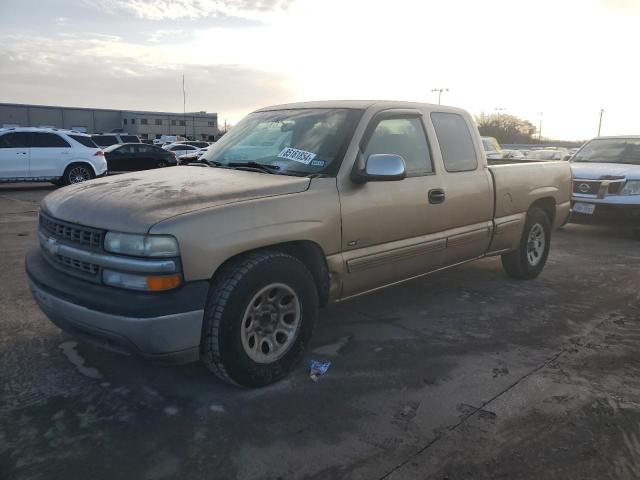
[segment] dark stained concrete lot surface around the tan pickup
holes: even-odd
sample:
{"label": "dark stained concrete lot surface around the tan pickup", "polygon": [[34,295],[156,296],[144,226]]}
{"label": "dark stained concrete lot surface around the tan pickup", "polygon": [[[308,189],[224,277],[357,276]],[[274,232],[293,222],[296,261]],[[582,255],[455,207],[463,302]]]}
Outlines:
{"label": "dark stained concrete lot surface around the tan pickup", "polygon": [[53,187],[0,186],[2,479],[640,478],[640,243],[555,233],[543,274],[498,259],[322,312],[262,390],[77,343],[23,258]]}

